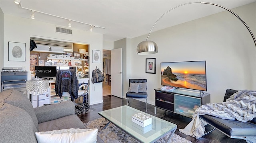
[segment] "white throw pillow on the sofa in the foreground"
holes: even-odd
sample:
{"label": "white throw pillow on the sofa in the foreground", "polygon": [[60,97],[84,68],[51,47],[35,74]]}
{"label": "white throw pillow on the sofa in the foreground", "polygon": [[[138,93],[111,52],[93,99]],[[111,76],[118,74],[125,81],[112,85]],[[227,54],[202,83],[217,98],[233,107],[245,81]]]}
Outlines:
{"label": "white throw pillow on the sofa in the foreground", "polygon": [[38,143],[96,143],[98,129],[60,129],[36,132]]}

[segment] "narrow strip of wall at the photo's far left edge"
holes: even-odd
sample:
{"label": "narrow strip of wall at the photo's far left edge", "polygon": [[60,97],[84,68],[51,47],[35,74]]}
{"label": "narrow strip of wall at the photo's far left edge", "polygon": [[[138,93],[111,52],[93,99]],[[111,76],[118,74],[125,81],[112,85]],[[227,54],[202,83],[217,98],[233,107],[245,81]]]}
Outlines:
{"label": "narrow strip of wall at the photo's far left edge", "polygon": [[[4,13],[0,8],[0,70],[4,67]],[[1,76],[0,76],[1,81]]]}

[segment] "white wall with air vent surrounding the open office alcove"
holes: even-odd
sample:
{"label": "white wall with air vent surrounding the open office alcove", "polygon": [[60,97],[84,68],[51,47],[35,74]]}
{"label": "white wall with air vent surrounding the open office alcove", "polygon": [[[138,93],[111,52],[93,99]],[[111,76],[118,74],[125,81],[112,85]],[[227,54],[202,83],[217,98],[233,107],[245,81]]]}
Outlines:
{"label": "white wall with air vent surrounding the open office alcove", "polygon": [[[66,41],[74,41],[74,43],[90,44],[90,69],[95,69],[97,66],[99,67],[99,69],[102,70],[102,60],[101,63],[92,63],[92,50],[102,51],[102,34],[78,30],[72,27],[72,35],[56,33],[55,26],[56,25],[39,22],[37,20],[4,15],[4,67],[26,67],[26,70],[29,71],[30,36],[36,35],[40,37],[45,37],[46,39],[52,38]],[[64,28],[70,29],[69,27]],[[8,41],[26,43],[25,62],[8,61]],[[102,57],[102,52],[100,53],[100,56]],[[91,74],[92,70],[90,70],[90,75]],[[102,83],[97,83],[93,85],[92,82],[90,82],[89,95],[90,104],[102,103]]]}

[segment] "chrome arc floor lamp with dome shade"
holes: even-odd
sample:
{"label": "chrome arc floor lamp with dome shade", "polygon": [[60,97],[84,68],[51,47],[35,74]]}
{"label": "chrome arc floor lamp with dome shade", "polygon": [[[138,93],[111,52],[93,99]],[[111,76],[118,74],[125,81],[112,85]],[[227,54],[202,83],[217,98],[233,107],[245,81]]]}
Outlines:
{"label": "chrome arc floor lamp with dome shade", "polygon": [[[246,28],[248,29],[248,31],[250,32],[250,34],[252,35],[252,39],[254,40],[254,44],[256,46],[256,40],[255,40],[255,37],[252,33],[252,31],[250,30],[250,28],[248,27],[248,25],[244,22],[244,20],[242,20],[242,18],[240,18],[237,14],[235,14],[234,12],[232,12],[231,10],[229,10],[228,8],[225,8],[224,6],[220,6],[218,4],[214,4],[214,3],[210,3],[210,2],[188,2],[188,3],[185,3],[185,4],[181,4],[179,6],[176,6],[170,10],[168,10],[166,13],[164,13],[160,18],[158,18],[158,20],[155,22],[155,24],[153,25],[153,27],[156,25],[156,23],[165,15],[167,14],[168,12],[174,10],[175,8],[178,8],[180,6],[184,6],[186,4],[194,4],[194,3],[200,3],[200,4],[211,4],[211,5],[214,5],[214,6],[218,6],[220,8],[224,8],[225,10],[231,12],[232,14],[234,14],[234,16],[236,16],[245,26]],[[153,29],[153,27],[151,28],[149,34],[148,34],[148,37]],[[148,37],[146,39],[146,41],[142,41],[138,44],[137,46],[137,54],[138,55],[149,55],[149,54],[155,54],[158,52],[158,47],[156,45],[155,42],[153,41],[148,41]]]}

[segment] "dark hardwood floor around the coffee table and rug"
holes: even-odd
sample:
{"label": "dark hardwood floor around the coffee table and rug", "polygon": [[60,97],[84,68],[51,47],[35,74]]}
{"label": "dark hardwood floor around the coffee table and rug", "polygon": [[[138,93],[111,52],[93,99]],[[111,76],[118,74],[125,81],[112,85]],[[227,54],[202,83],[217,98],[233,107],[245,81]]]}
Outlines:
{"label": "dark hardwood floor around the coffee table and rug", "polygon": [[[100,111],[108,110],[111,108],[116,108],[116,107],[123,106],[123,105],[127,104],[126,99],[121,99],[116,96],[110,96],[110,95],[103,96],[103,101],[104,101],[104,103],[92,105],[92,107],[96,108],[96,111],[89,112],[84,115],[79,115],[78,117],[84,123],[87,123],[88,121],[92,121],[94,119],[101,118],[101,116],[98,115],[98,112],[100,112]],[[145,109],[144,102],[140,102],[140,101],[134,100],[134,99],[131,99],[129,101],[130,101],[130,106],[132,108],[136,108],[138,110],[145,112],[146,109]],[[148,114],[151,114],[153,116],[164,119],[166,121],[175,123],[178,126],[175,133],[177,135],[179,135],[180,137],[184,137],[185,139],[190,140],[193,143],[246,143],[246,141],[244,141],[242,139],[231,139],[231,138],[227,137],[226,135],[224,135],[223,133],[221,133],[220,131],[218,131],[217,129],[215,129],[208,135],[205,135],[199,139],[190,137],[188,135],[181,133],[180,131],[178,131],[178,129],[183,129],[184,127],[186,127],[186,125],[188,125],[188,123],[192,119],[172,113],[172,112],[164,111],[164,110],[161,110],[158,108],[156,109],[156,114],[154,114],[154,106],[151,104],[148,104],[147,108],[148,108],[148,112],[147,112]],[[211,127],[208,126],[208,127],[206,127],[206,130],[210,129],[210,128]]]}

